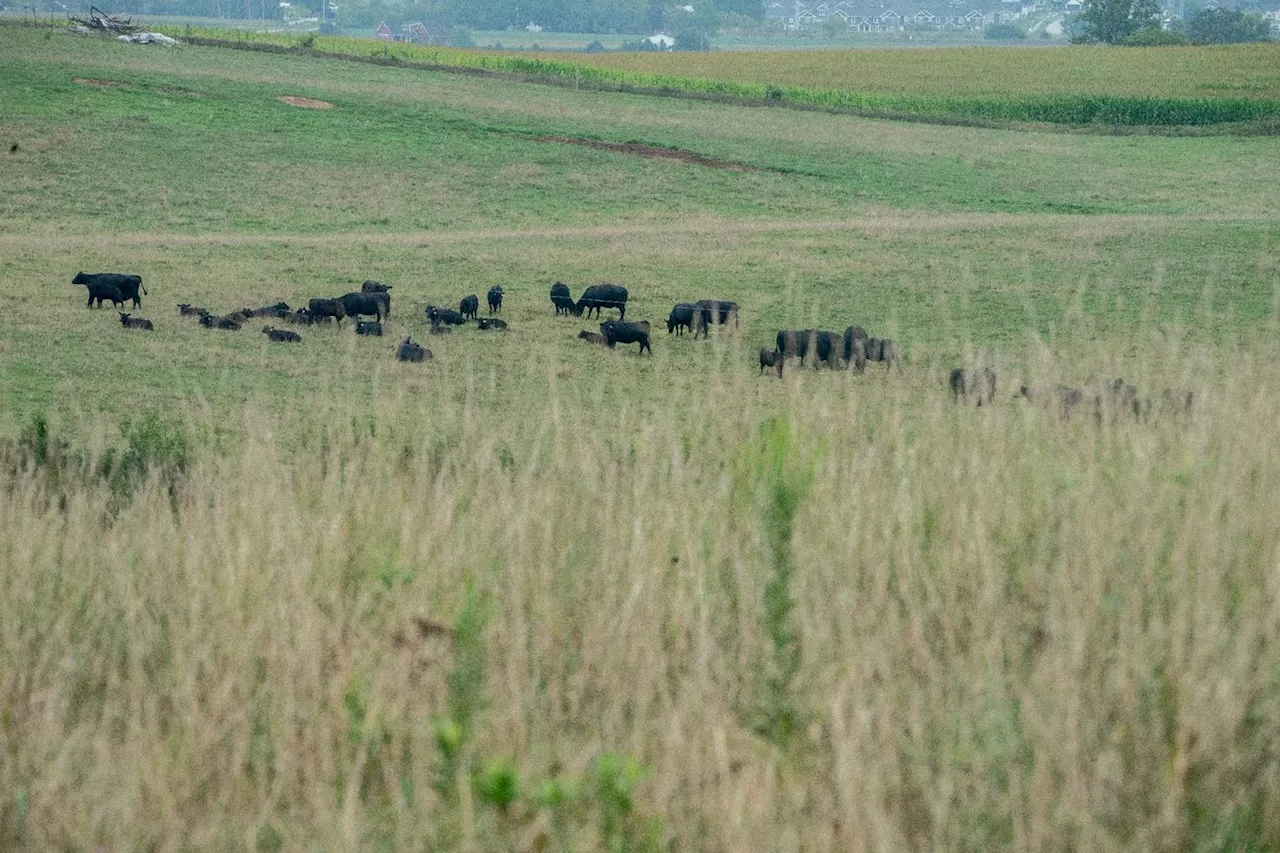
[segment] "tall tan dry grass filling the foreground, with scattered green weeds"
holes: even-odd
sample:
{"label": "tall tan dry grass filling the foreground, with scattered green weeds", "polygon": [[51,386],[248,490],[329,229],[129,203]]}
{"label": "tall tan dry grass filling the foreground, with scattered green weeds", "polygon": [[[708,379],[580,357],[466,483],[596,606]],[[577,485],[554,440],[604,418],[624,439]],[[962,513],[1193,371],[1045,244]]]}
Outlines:
{"label": "tall tan dry grass filling the foreground, with scattered green weeds", "polygon": [[1215,355],[1098,365],[1201,392],[1144,421],[919,364],[264,405],[123,500],[10,446],[0,847],[1266,849],[1280,374]]}

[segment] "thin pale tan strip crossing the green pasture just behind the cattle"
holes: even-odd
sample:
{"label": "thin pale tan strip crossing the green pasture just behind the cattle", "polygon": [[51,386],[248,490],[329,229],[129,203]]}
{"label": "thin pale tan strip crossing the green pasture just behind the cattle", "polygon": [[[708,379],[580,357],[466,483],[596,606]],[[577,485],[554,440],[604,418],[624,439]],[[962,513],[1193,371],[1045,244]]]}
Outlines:
{"label": "thin pale tan strip crossing the green pasture just behind the cattle", "polygon": [[621,240],[636,237],[687,237],[705,236],[732,238],[735,236],[764,233],[815,233],[855,232],[872,237],[913,232],[968,232],[1001,228],[1034,228],[1047,232],[1123,232],[1164,231],[1189,223],[1260,224],[1272,222],[1267,216],[1184,216],[1156,214],[902,214],[856,216],[838,220],[730,220],[716,216],[689,219],[678,223],[591,225],[582,228],[484,228],[460,231],[406,231],[406,232],[323,232],[289,234],[210,233],[178,234],[172,232],[137,232],[120,234],[83,233],[32,233],[0,234],[0,247],[38,248],[56,243],[69,248],[101,248],[106,240],[111,246],[265,246],[279,243],[310,245],[372,245],[417,246],[421,248],[466,245],[492,241],[524,240]]}

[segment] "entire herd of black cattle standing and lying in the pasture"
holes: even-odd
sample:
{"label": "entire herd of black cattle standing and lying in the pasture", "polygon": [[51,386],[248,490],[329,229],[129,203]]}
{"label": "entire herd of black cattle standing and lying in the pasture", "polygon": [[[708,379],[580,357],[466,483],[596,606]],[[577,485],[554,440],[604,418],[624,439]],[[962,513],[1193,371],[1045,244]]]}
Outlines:
{"label": "entire herd of black cattle standing and lying in the pasture", "polygon": [[[104,301],[110,301],[116,307],[123,307],[127,300],[132,300],[133,307],[142,306],[142,297],[147,291],[142,287],[138,275],[122,273],[78,273],[72,279],[73,284],[83,284],[88,288],[88,307],[101,307]],[[239,330],[253,318],[275,318],[279,321],[300,327],[321,324],[340,325],[342,320],[349,318],[355,324],[355,332],[360,336],[383,334],[383,320],[392,313],[392,287],[380,282],[367,280],[360,291],[346,293],[335,298],[312,298],[306,307],[291,309],[287,302],[276,302],[256,309],[241,309],[230,314],[215,315],[202,307],[192,306],[187,302],[178,305],[178,314],[182,316],[198,318],[201,325],[210,329]],[[591,284],[582,296],[573,298],[568,286],[556,282],[550,289],[550,301],[557,315],[591,316],[595,313],[599,319],[605,309],[618,311],[617,320],[603,320],[600,330],[579,333],[579,338],[589,343],[607,346],[609,348],[618,343],[637,343],[640,353],[653,355],[650,345],[652,327],[648,320],[627,320],[627,288],[620,284]],[[425,314],[430,323],[430,334],[449,334],[451,327],[463,325],[475,321],[481,330],[506,330],[507,323],[493,316],[502,311],[503,289],[500,286],[489,288],[488,295],[489,316],[479,316],[480,298],[475,295],[466,296],[458,302],[457,310],[451,307],[438,307],[428,305]],[[372,320],[361,318],[371,316]],[[692,332],[694,339],[699,336],[708,337],[712,325],[739,325],[737,302],[727,300],[698,300],[696,302],[680,302],[671,309],[667,316],[667,333],[677,337],[685,332]],[[120,311],[120,325],[125,329],[155,330],[151,320],[134,318],[132,314]],[[269,341],[280,343],[298,343],[302,336],[288,329],[278,329],[274,325],[262,328]],[[419,362],[431,357],[431,351],[416,343],[411,337],[406,337],[396,348],[396,357],[401,361]],[[831,368],[844,365],[846,369],[865,370],[867,364],[883,362],[886,370],[901,365],[901,346],[892,338],[870,337],[860,325],[850,325],[840,332],[827,332],[823,329],[783,329],[777,333],[774,347],[762,348],[759,353],[760,373],[771,368],[782,375],[783,365],[790,359],[800,359],[804,366],[805,360],[812,357],[815,368],[823,364]],[[948,377],[948,384],[956,402],[974,401],[978,406],[995,402],[996,398],[996,373],[991,368],[963,369],[956,368]],[[1139,398],[1138,389],[1125,382],[1116,379],[1110,383],[1091,383],[1089,388],[1080,391],[1066,386],[1056,386],[1051,389],[1033,391],[1021,386],[1016,397],[1056,406],[1060,415],[1066,419],[1071,411],[1085,403],[1096,414],[1103,410],[1111,412],[1132,414],[1142,418],[1152,409],[1151,400]],[[1161,398],[1164,406],[1171,411],[1189,411],[1194,401],[1193,392],[1166,389]]]}

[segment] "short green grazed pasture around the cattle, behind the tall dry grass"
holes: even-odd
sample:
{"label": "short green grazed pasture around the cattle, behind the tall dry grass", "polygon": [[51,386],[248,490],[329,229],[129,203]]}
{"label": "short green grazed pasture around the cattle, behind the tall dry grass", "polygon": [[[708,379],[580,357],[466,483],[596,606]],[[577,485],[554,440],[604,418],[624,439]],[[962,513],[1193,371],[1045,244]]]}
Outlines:
{"label": "short green grazed pasture around the cattle, behind the tall dry grass", "polygon": [[[659,405],[708,365],[754,373],[778,328],[851,323],[900,338],[908,380],[933,388],[974,350],[1018,370],[1046,341],[1089,353],[1071,368],[1084,374],[1151,336],[1270,346],[1276,316],[1268,138],[902,124],[13,27],[0,104],[10,430],[45,411],[232,412],[404,382],[467,393],[484,379],[471,393],[512,410],[548,382]],[[141,274],[136,314],[157,332],[86,310],[78,270]],[[369,278],[394,288],[381,341],[303,330],[289,348],[261,324],[214,333],[175,315],[301,305]],[[654,356],[576,341],[595,321],[552,315],[556,280],[627,286]],[[428,339],[425,304],[483,302],[494,283],[511,332]],[[668,338],[671,305],[701,297],[739,301],[744,328]],[[392,364],[406,334],[430,365]]]}

